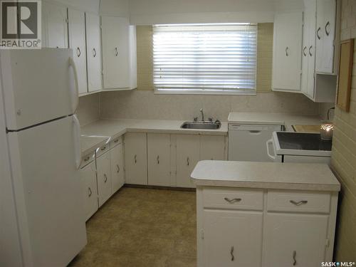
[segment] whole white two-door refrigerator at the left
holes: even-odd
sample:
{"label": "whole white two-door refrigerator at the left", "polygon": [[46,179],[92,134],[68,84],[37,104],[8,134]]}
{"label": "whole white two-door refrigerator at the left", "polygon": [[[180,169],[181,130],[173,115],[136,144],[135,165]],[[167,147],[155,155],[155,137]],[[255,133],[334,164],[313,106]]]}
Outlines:
{"label": "whole white two-door refrigerator at the left", "polygon": [[[21,266],[66,266],[87,242],[71,55],[56,48],[0,52],[1,131],[11,175],[4,180],[12,187],[2,193],[14,200]],[[9,253],[1,256],[11,261]]]}

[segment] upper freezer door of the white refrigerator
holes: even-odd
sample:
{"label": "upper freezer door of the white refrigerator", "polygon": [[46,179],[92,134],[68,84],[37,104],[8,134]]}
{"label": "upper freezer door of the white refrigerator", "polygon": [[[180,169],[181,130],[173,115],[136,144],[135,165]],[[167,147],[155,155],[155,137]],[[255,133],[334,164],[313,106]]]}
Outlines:
{"label": "upper freezer door of the white refrigerator", "polygon": [[1,51],[6,125],[20,130],[71,115],[78,103],[70,49]]}

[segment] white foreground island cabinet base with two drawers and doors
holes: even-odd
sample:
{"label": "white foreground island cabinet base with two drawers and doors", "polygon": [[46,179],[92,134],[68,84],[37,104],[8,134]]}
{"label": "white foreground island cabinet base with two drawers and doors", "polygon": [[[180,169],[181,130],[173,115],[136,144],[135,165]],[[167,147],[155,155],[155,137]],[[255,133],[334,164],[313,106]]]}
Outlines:
{"label": "white foreground island cabinet base with two drawers and doors", "polygon": [[337,192],[197,187],[198,267],[333,261]]}

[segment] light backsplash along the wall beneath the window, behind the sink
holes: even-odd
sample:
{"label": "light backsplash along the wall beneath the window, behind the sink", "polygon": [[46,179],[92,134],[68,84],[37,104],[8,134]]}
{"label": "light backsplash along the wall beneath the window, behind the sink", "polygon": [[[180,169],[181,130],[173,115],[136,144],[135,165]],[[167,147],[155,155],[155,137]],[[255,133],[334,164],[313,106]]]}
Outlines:
{"label": "light backsplash along the wall beneath the window, behind the sink", "polygon": [[101,93],[101,117],[152,120],[192,120],[200,108],[206,117],[226,121],[229,112],[289,112],[318,114],[319,105],[301,94],[159,95],[152,90]]}

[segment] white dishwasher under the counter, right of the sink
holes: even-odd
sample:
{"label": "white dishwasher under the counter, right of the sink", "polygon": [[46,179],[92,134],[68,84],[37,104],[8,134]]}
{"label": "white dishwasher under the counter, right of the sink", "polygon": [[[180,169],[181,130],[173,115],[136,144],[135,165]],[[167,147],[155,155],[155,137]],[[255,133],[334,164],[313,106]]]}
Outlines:
{"label": "white dishwasher under the counter, right of the sink", "polygon": [[229,125],[229,160],[272,162],[266,142],[281,130],[283,125]]}

